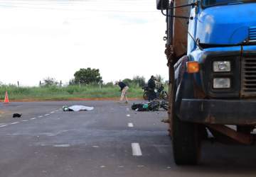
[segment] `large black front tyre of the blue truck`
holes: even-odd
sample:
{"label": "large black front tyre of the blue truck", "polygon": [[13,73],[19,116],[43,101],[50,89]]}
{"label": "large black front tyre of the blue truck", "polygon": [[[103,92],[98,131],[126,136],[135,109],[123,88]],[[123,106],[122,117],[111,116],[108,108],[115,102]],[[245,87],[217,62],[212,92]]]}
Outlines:
{"label": "large black front tyre of the blue truck", "polygon": [[198,125],[182,122],[176,115],[172,123],[174,161],[177,165],[196,165],[201,154]]}

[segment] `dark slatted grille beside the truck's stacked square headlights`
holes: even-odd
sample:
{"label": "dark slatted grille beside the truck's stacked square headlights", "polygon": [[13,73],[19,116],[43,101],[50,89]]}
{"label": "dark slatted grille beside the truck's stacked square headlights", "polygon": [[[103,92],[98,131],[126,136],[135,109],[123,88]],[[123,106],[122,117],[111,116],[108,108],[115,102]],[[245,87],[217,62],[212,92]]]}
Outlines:
{"label": "dark slatted grille beside the truck's stacked square headlights", "polygon": [[241,96],[256,96],[256,57],[242,57]]}

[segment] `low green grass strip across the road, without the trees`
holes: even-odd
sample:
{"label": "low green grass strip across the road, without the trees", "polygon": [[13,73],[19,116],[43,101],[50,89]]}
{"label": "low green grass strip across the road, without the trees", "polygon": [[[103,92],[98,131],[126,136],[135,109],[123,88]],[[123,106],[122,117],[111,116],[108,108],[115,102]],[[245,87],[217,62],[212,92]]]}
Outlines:
{"label": "low green grass strip across the road, without the trees", "polygon": [[[17,87],[0,86],[0,99],[4,100],[5,91],[9,100],[60,101],[82,98],[119,98],[118,86],[41,86]],[[142,87],[130,86],[128,98],[142,98]]]}

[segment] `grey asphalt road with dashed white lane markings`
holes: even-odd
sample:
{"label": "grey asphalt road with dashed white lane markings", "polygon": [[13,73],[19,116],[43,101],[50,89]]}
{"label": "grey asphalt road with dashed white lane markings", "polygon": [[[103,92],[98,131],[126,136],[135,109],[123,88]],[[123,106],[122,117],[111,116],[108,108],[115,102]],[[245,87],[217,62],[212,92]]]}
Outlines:
{"label": "grey asphalt road with dashed white lane markings", "polygon": [[[63,105],[95,109],[63,112]],[[176,166],[166,112],[114,101],[0,103],[0,177],[255,176],[255,147],[203,142],[200,166]],[[22,118],[11,118],[23,113]]]}

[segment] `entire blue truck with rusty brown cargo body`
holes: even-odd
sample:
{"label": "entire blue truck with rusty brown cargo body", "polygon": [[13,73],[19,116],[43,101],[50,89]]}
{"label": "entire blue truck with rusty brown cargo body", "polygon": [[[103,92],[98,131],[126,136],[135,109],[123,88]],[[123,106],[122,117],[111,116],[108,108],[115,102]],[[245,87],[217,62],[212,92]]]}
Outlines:
{"label": "entire blue truck with rusty brown cargo body", "polygon": [[156,0],[166,16],[174,161],[198,164],[201,141],[254,144],[256,1]]}

